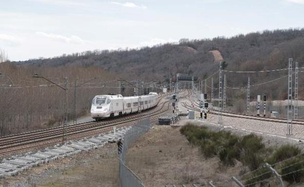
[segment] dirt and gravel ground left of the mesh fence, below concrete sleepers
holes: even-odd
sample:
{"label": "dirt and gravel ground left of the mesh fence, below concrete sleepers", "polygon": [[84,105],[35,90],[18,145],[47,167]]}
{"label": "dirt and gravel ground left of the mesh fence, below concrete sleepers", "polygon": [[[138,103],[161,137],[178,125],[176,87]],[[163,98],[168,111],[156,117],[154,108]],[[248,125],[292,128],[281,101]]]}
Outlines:
{"label": "dirt and gravel ground left of the mesh fence, below concrete sleepers", "polygon": [[0,187],[117,187],[116,153],[116,144],[108,144],[5,177]]}

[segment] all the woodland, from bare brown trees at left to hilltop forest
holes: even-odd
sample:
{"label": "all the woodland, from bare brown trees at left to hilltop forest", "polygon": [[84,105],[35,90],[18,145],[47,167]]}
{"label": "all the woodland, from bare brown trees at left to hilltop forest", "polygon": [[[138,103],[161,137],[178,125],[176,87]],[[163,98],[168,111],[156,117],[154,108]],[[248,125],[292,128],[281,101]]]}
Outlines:
{"label": "all the woodland, from bare brown trees at left to hilltop forest", "polygon": [[[62,124],[64,91],[49,83],[33,78],[41,74],[56,83],[63,84],[69,78],[69,113],[73,114],[74,79],[79,83],[98,77],[95,85],[78,89],[79,115],[89,111],[94,95],[117,93],[117,83],[102,87],[101,82],[122,76],[128,80],[140,79],[173,82],[177,72],[193,74],[205,80],[219,69],[210,51],[218,50],[224,58],[224,70],[260,71],[287,68],[288,58],[304,66],[304,29],[264,31],[239,34],[234,37],[213,39],[181,39],[140,49],[116,51],[84,51],[63,54],[54,58],[30,59],[28,61],[0,63],[0,72],[13,83],[0,76],[0,136]],[[7,55],[5,54],[5,58]],[[294,66],[294,65],[293,65]],[[286,70],[266,73],[229,73],[227,75],[227,105],[244,112],[246,107],[247,77],[251,85],[271,81],[287,74]],[[214,86],[218,86],[218,73],[213,75]],[[299,98],[303,99],[303,75],[300,73]],[[88,83],[89,84],[89,83]],[[11,87],[8,88],[8,86]],[[24,87],[25,85],[30,87]],[[111,86],[112,87],[111,87]],[[21,86],[22,88],[18,88]],[[94,87],[95,86],[95,87]],[[208,79],[210,86],[210,79]],[[231,89],[242,88],[242,89]],[[210,88],[208,87],[210,95]],[[269,84],[250,87],[251,101],[257,94],[266,93],[269,100],[286,99],[287,77]],[[214,90],[217,98],[218,90]],[[71,119],[71,118],[70,118]]]}

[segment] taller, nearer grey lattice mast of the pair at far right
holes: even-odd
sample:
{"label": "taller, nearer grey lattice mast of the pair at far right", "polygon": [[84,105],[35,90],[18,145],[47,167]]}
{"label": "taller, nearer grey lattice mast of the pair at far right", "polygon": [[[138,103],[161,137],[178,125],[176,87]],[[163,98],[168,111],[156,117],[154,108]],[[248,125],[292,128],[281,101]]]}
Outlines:
{"label": "taller, nearer grey lattice mast of the pair at far right", "polygon": [[288,106],[287,106],[287,133],[286,135],[292,135],[292,58],[288,59]]}

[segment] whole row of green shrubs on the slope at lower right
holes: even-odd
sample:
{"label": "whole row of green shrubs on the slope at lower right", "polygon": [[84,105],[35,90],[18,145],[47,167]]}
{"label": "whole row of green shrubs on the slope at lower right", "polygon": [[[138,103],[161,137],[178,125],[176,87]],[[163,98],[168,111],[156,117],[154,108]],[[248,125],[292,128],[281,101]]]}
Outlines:
{"label": "whole row of green shrubs on the slope at lower right", "polygon": [[248,187],[273,177],[265,163],[289,184],[304,182],[304,154],[296,146],[266,148],[261,136],[237,136],[230,131],[212,131],[191,123],[183,126],[180,132],[192,145],[200,147],[205,158],[218,156],[224,166],[234,166],[236,161],[246,166],[250,171],[242,175],[242,180]]}

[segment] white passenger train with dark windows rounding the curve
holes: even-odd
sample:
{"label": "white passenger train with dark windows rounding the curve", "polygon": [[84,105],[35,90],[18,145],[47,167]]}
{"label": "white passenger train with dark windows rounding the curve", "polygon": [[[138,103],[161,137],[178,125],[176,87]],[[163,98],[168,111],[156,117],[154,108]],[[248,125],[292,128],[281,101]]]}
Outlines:
{"label": "white passenger train with dark windows rounding the curve", "polygon": [[92,102],[91,116],[100,120],[147,110],[157,104],[157,96],[155,92],[143,95],[141,99],[139,96],[123,97],[120,94],[97,95]]}

